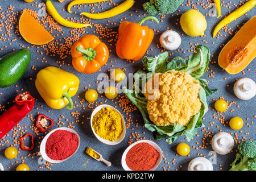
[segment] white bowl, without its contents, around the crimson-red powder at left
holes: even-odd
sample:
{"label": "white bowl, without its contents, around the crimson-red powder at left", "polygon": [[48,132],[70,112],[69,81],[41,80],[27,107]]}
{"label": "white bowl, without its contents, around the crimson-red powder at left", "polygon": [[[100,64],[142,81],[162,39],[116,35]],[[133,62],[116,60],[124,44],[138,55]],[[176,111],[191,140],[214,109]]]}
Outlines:
{"label": "white bowl, without its contents, around the crimson-red powder at left", "polygon": [[[52,133],[54,133],[57,130],[67,130],[67,131],[70,131],[71,133],[76,134],[76,136],[77,136],[77,138],[79,140],[79,143],[78,143],[76,151],[71,156],[69,156],[68,158],[63,159],[63,160],[53,160],[53,159],[49,158],[47,156],[47,154],[46,154],[46,142],[47,142],[47,139],[49,138],[49,136]],[[77,152],[77,150],[79,149],[79,146],[80,146],[80,137],[79,137],[79,134],[77,134],[75,130],[69,129],[68,127],[59,127],[57,129],[52,130],[50,133],[48,133],[46,135],[46,137],[44,137],[44,139],[42,140],[42,143],[40,144],[40,154],[42,155],[42,158],[44,160],[46,160],[47,162],[53,163],[53,164],[57,164],[57,163],[64,162],[65,160],[68,160],[69,158],[71,158]]]}

